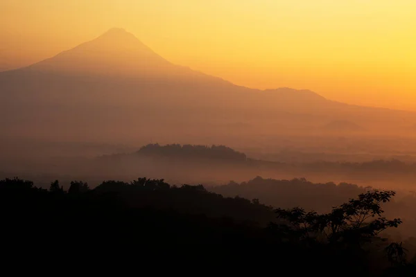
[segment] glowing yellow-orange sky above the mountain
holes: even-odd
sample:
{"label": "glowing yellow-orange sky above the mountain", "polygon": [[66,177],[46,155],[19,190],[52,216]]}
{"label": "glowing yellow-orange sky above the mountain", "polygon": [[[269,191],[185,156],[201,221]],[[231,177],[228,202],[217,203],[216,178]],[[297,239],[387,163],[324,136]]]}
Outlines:
{"label": "glowing yellow-orange sky above the mountain", "polygon": [[1,0],[0,70],[125,28],[245,87],[416,110],[415,0]]}

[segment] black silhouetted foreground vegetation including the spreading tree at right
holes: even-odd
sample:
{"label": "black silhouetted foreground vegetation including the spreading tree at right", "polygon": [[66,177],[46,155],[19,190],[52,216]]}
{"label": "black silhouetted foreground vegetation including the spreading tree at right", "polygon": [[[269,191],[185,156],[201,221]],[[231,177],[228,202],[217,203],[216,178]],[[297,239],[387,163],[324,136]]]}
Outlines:
{"label": "black silhouetted foreground vegetation including the spreading tree at right", "polygon": [[381,205],[394,195],[369,190],[318,214],[273,210],[258,199],[226,198],[162,179],[105,181],[94,189],[73,181],[67,191],[58,181],[46,190],[5,179],[2,250],[42,249],[54,256],[131,252],[153,262],[168,255],[234,273],[251,267],[295,276],[302,271],[328,276],[332,270],[338,276],[413,276],[413,253],[380,236],[401,224],[383,217]]}

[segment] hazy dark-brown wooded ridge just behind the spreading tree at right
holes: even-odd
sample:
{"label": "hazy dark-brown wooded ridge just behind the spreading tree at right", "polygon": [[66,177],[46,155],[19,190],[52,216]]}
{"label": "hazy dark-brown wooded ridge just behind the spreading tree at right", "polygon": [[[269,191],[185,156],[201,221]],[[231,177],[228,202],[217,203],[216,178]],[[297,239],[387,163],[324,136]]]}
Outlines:
{"label": "hazy dark-brown wooded ridge just behind the spreading tree at right", "polygon": [[[261,203],[274,207],[291,208],[301,206],[306,211],[327,213],[333,206],[346,202],[374,188],[355,184],[313,183],[304,178],[291,180],[263,179],[256,177],[240,184],[231,181],[227,185],[209,186],[208,189],[226,197],[259,199]],[[416,234],[416,193],[400,192],[385,207],[386,215],[400,217],[404,224],[389,231],[396,240],[404,240]]]}

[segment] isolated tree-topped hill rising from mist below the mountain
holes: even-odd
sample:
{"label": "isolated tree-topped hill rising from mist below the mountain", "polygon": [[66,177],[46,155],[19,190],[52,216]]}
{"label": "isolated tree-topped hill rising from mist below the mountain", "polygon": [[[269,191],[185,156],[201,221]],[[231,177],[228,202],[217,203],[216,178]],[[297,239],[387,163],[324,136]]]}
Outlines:
{"label": "isolated tree-topped hill rising from mist below the mountain", "polygon": [[[229,175],[241,174],[253,162],[223,145],[149,144],[136,152],[97,157],[89,163],[88,170],[81,170],[85,177],[91,173],[101,175],[100,180],[134,179],[139,175],[166,178],[171,184],[200,184],[218,179],[228,181]],[[252,172],[244,179],[253,175]]]}

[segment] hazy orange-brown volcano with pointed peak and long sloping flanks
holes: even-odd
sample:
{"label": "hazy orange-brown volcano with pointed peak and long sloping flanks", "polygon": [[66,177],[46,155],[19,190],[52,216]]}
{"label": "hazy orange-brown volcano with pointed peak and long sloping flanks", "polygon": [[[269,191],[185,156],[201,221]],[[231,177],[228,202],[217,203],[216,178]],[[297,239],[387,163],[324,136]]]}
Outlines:
{"label": "hazy orange-brown volcano with pointed peak and long sloping flanks", "polygon": [[8,136],[82,141],[219,138],[235,128],[218,126],[235,122],[250,126],[236,130],[239,136],[255,139],[309,132],[331,120],[380,129],[416,121],[415,113],[346,105],[309,90],[237,86],[172,64],[120,28],[1,72],[0,102]]}

